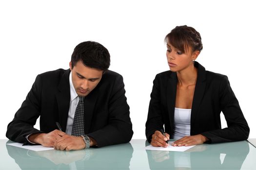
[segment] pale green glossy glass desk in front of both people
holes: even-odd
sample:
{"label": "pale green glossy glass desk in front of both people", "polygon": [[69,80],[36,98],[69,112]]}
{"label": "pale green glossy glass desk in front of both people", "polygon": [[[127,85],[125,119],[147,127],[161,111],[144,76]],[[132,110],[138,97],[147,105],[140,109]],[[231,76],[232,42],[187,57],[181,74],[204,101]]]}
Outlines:
{"label": "pale green glossy glass desk in front of both people", "polygon": [[186,152],[146,151],[145,139],[80,151],[30,151],[0,140],[0,170],[254,170],[247,141],[202,144]]}

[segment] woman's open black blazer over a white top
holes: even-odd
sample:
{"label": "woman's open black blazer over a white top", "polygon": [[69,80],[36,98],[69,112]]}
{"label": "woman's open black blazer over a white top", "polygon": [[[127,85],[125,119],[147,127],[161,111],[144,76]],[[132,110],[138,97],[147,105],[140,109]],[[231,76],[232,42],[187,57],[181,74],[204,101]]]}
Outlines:
{"label": "woman's open black blazer over a white top", "polygon": [[[190,135],[201,134],[209,143],[245,140],[249,126],[225,75],[206,71],[196,61],[197,83],[191,110]],[[174,110],[177,90],[177,73],[165,71],[155,80],[146,122],[146,137],[151,142],[156,130],[174,134]],[[221,129],[220,112],[225,116],[227,128]]]}

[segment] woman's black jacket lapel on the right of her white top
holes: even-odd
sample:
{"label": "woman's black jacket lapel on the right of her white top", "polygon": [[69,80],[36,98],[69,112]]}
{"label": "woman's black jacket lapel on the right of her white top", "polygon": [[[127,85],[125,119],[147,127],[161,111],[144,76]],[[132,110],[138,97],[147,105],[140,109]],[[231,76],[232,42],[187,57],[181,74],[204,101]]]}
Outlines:
{"label": "woman's black jacket lapel on the right of her white top", "polygon": [[197,117],[198,108],[200,106],[201,100],[204,95],[204,90],[206,86],[206,71],[203,66],[195,61],[195,67],[197,67],[197,83],[195,87],[193,102],[192,102],[192,110],[191,110],[191,135],[194,135],[193,129],[195,126],[195,119]]}

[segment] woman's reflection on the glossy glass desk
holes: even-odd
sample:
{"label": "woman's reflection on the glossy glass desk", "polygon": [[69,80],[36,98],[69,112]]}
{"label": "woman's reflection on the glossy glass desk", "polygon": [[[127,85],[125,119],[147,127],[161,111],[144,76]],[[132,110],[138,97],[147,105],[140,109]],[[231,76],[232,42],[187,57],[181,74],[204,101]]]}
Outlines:
{"label": "woman's reflection on the glossy glass desk", "polygon": [[[146,146],[149,145],[146,142]],[[149,151],[151,170],[240,170],[249,153],[247,141],[197,145],[185,152]]]}

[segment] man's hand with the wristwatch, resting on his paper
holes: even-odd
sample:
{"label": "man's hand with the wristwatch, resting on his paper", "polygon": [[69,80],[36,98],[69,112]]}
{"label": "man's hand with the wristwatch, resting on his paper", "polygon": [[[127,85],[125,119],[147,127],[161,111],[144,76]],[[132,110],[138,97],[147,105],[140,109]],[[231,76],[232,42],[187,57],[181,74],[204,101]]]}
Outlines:
{"label": "man's hand with the wristwatch, resting on his paper", "polygon": [[85,148],[85,143],[81,136],[64,135],[54,143],[56,150],[80,150]]}

